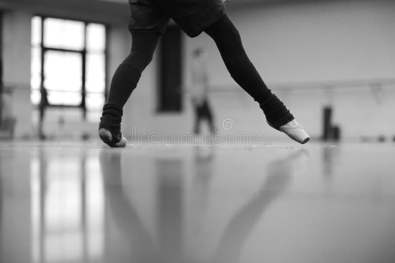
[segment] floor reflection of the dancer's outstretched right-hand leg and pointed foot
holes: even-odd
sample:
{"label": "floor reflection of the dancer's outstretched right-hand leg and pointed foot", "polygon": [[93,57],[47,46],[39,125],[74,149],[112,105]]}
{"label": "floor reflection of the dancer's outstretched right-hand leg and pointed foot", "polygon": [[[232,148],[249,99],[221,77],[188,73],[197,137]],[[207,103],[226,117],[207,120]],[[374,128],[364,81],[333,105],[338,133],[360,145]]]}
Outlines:
{"label": "floor reflection of the dancer's outstretched right-hand leg and pointed foot", "polygon": [[268,166],[264,185],[231,219],[220,240],[213,263],[238,263],[243,244],[251,234],[265,209],[285,192],[295,164],[307,156],[300,150],[285,159],[274,161]]}

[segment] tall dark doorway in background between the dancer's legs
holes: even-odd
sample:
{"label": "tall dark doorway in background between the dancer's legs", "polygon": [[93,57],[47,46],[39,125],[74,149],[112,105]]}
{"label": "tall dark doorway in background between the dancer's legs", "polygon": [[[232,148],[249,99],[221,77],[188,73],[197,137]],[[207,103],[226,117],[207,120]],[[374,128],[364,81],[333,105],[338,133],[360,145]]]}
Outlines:
{"label": "tall dark doorway in background between the dancer's legs", "polygon": [[158,112],[182,111],[182,31],[169,25],[160,41]]}

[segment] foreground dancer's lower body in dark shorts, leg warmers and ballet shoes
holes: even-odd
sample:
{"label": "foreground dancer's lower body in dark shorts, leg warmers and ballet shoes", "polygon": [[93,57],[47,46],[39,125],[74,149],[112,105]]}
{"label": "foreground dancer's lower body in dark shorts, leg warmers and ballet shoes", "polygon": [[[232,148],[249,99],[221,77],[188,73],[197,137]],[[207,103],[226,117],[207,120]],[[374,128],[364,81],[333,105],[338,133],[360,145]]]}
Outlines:
{"label": "foreground dancer's lower body in dark shorts, leg warmers and ballet shoes", "polygon": [[130,54],[118,66],[103,106],[99,136],[110,147],[125,147],[120,132],[123,106],[151,63],[159,37],[172,18],[190,37],[207,33],[215,42],[232,78],[259,103],[270,126],[300,143],[310,136],[263,82],[248,59],[240,34],[225,12],[228,0],[129,0]]}

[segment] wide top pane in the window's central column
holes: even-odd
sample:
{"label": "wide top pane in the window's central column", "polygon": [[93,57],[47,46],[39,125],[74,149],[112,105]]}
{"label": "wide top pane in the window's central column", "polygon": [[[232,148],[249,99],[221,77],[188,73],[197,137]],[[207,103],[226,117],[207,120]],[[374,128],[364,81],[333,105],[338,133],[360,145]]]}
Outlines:
{"label": "wide top pane in the window's central column", "polygon": [[46,18],[44,20],[44,46],[82,50],[85,24],[79,21]]}

